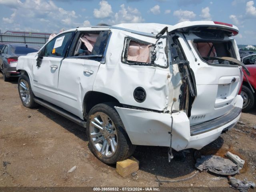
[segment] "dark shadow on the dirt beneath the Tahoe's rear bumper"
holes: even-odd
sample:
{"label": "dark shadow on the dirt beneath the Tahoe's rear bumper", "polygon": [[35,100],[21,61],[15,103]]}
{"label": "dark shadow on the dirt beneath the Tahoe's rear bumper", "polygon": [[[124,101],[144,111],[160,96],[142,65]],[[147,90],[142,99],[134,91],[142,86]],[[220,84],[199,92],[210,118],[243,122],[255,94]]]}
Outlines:
{"label": "dark shadow on the dirt beneath the Tahoe's rear bumper", "polygon": [[[215,154],[223,145],[223,139],[219,137],[201,150],[185,150],[176,152],[173,150],[174,158],[168,162],[168,148],[157,146],[137,146],[134,157],[140,161],[140,170],[164,178],[178,178],[192,175],[196,170],[194,165],[196,158],[201,155]],[[207,153],[209,152],[209,153]]]}

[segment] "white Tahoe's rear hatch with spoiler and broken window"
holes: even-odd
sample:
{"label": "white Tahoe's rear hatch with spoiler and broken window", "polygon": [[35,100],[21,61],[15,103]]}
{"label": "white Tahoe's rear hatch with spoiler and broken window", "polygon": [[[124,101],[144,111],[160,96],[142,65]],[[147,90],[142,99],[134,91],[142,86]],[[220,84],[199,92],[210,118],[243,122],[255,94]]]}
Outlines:
{"label": "white Tahoe's rear hatch with spoiler and broken window", "polygon": [[[236,104],[242,72],[235,62],[223,57],[239,59],[232,36],[238,29],[230,24],[188,22],[176,29],[182,52],[194,74],[196,95],[190,96],[186,110],[190,126],[213,120],[230,112]],[[242,107],[242,106],[241,106]]]}

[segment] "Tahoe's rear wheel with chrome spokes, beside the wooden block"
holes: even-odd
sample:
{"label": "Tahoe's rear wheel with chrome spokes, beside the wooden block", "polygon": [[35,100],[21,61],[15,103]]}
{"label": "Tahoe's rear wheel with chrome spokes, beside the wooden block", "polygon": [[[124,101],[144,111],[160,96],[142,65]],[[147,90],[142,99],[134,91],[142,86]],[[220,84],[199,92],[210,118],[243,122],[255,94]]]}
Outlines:
{"label": "Tahoe's rear wheel with chrome spokes, beside the wooden block", "polygon": [[92,153],[106,164],[116,164],[131,156],[136,148],[113,103],[95,105],[88,114],[87,137]]}

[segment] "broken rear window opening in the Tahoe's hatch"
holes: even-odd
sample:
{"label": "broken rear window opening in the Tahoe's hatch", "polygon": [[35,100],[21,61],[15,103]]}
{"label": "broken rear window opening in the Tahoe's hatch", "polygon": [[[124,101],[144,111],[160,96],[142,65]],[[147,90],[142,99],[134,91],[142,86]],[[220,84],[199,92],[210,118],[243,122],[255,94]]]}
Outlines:
{"label": "broken rear window opening in the Tahoe's hatch", "polygon": [[232,43],[229,41],[194,40],[193,43],[199,55],[210,64],[229,64],[216,57],[235,58]]}

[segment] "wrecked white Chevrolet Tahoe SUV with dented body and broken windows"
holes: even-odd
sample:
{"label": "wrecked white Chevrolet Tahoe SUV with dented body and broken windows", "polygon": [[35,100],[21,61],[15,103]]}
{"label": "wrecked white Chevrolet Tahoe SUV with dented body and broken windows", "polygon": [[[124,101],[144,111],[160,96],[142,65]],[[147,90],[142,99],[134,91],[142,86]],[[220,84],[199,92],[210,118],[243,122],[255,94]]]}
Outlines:
{"label": "wrecked white Chevrolet Tahoe SUV with dented body and broken windows", "polygon": [[213,21],[68,30],[18,58],[18,91],[24,106],[86,128],[102,162],[124,160],[136,145],[167,146],[170,160],[171,149],[200,149],[240,118],[236,34]]}

